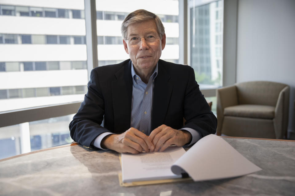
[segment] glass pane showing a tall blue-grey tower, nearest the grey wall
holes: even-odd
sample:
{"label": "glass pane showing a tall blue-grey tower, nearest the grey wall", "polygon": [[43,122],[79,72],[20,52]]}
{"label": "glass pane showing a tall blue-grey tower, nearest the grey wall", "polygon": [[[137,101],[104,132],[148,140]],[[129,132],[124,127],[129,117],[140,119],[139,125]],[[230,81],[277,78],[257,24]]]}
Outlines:
{"label": "glass pane showing a tall blue-grey tower, nearest the grey wall", "polygon": [[[190,1],[192,2],[192,1]],[[190,65],[201,88],[221,85],[222,7],[221,1],[194,6],[190,10]]]}

